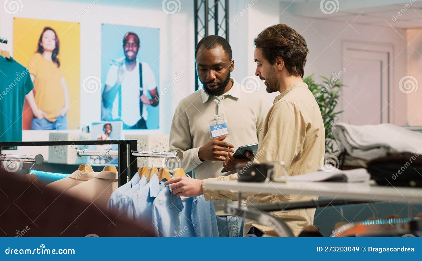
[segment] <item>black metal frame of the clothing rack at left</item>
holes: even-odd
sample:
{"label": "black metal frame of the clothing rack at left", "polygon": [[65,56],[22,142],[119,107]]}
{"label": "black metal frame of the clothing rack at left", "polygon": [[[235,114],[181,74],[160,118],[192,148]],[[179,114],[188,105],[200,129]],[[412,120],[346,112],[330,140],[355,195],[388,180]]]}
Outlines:
{"label": "black metal frame of the clothing rack at left", "polygon": [[[117,157],[119,172],[119,186],[127,183],[128,174],[133,175],[138,170],[136,156],[129,151],[136,151],[136,140],[64,140],[64,141],[19,141],[0,142],[0,154],[2,147],[25,147],[25,146],[70,146],[70,145],[117,145]],[[129,170],[128,170],[129,168]],[[132,177],[130,177],[132,178]]]}

